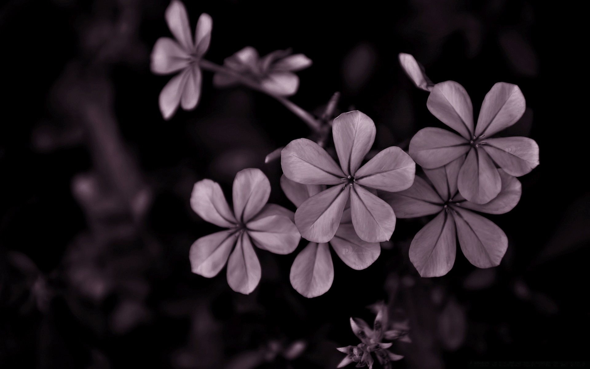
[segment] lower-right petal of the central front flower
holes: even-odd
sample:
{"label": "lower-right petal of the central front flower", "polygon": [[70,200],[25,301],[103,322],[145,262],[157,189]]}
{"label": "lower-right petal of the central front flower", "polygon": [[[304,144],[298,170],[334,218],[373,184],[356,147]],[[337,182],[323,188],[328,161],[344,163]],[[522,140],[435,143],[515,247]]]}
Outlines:
{"label": "lower-right petal of the central front flower", "polygon": [[391,238],[395,228],[395,214],[388,203],[356,185],[352,187],[350,195],[350,210],[352,224],[360,239],[382,242]]}

